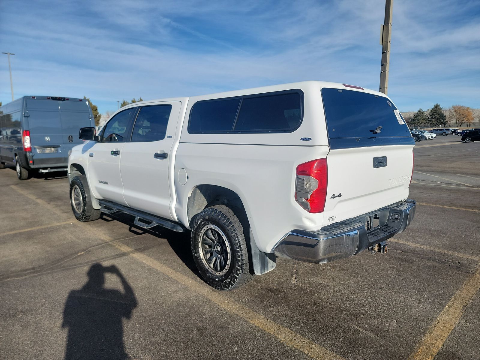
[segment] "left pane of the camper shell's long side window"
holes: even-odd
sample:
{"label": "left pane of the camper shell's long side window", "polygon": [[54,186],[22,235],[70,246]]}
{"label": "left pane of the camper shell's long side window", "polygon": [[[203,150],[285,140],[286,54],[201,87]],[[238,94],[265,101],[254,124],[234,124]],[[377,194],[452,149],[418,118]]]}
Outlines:
{"label": "left pane of the camper shell's long side window", "polygon": [[190,133],[231,131],[239,104],[240,98],[196,103],[190,114],[188,131]]}

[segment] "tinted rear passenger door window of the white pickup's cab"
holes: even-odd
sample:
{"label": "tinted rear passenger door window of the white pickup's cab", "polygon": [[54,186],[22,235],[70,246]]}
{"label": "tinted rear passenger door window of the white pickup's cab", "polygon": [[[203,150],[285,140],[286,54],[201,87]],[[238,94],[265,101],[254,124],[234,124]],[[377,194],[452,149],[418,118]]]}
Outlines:
{"label": "tinted rear passenger door window of the white pickup's cab", "polygon": [[165,138],[171,105],[144,106],[132,132],[132,141],[157,141]]}

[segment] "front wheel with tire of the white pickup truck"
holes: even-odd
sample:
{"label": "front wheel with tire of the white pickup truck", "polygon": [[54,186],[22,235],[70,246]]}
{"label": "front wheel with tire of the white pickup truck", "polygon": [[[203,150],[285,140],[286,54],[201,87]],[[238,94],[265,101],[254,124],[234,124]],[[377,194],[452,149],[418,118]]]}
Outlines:
{"label": "front wheel with tire of the white pickup truck", "polygon": [[78,221],[93,221],[100,218],[100,209],[94,209],[85,175],[75,176],[70,183],[70,204]]}

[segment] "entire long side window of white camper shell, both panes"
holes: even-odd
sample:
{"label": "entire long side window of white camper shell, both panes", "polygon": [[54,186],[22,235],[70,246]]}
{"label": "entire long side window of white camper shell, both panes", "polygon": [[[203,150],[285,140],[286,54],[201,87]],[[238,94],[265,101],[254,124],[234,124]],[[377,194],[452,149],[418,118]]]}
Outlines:
{"label": "entire long side window of white camper shell, both panes", "polygon": [[[262,96],[263,95],[263,96]],[[192,107],[190,133],[290,132],[302,118],[302,93],[242,96],[199,101]]]}

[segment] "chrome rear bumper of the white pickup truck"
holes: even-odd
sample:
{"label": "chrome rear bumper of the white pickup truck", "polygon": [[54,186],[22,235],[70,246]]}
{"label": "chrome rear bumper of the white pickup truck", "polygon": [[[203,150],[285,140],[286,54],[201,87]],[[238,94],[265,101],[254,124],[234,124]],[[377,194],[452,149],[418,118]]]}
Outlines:
{"label": "chrome rear bumper of the white pickup truck", "polygon": [[[276,244],[273,252],[276,256],[309,263],[344,259],[404,231],[415,216],[415,206],[414,200],[406,200],[320,230],[292,230]],[[379,217],[378,226],[367,230],[366,224],[375,215]]]}

